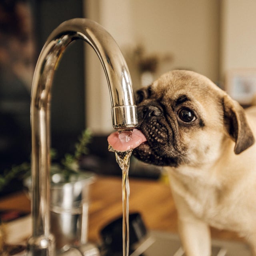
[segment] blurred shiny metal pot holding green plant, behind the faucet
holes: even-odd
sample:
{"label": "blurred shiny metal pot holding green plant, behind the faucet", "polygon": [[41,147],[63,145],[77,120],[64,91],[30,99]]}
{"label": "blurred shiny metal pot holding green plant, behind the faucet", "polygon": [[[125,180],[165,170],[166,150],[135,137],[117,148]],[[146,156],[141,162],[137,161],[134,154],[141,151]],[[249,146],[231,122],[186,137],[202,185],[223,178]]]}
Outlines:
{"label": "blurred shiny metal pot holding green plant, behind the faucet", "polygon": [[[56,249],[67,250],[88,242],[88,208],[90,184],[95,180],[90,172],[71,174],[68,182],[62,172],[51,177],[50,222],[56,239]],[[24,185],[31,190],[31,179]]]}

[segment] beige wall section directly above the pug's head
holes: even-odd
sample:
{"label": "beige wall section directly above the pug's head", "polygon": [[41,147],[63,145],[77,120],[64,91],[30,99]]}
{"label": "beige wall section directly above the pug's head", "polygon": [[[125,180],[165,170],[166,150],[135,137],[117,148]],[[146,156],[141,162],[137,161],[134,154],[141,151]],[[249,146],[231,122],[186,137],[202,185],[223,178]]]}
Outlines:
{"label": "beige wall section directly above the pug's head", "polygon": [[152,52],[173,54],[169,66],[218,80],[219,1],[132,0],[134,38]]}

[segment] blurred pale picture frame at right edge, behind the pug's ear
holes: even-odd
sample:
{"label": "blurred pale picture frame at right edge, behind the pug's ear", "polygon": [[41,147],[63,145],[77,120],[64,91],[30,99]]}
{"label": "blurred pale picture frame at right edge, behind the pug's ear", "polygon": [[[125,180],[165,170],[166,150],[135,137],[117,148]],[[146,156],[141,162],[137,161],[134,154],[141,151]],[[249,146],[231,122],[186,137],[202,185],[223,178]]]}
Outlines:
{"label": "blurred pale picture frame at right edge, behind the pug's ear", "polygon": [[242,106],[250,106],[256,97],[256,68],[229,70],[224,89]]}

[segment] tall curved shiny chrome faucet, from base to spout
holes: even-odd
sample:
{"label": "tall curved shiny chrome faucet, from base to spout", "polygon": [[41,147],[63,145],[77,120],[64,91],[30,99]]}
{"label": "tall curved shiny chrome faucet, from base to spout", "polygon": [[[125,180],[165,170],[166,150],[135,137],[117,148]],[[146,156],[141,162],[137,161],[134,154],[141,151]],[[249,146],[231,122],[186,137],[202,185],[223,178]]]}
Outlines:
{"label": "tall curved shiny chrome faucet, from base to spout", "polygon": [[115,129],[132,130],[137,111],[130,74],[124,57],[108,32],[98,23],[76,18],[60,24],[49,36],[36,64],[31,93],[32,130],[32,236],[28,256],[56,254],[50,233],[50,100],[54,71],[62,53],[74,40],[86,41],[97,53],[104,68]]}

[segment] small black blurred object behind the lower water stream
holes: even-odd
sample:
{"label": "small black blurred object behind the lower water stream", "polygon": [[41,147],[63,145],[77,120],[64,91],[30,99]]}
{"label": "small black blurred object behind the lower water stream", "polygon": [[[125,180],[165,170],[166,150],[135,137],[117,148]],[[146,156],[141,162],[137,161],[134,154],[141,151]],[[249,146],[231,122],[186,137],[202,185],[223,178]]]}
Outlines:
{"label": "small black blurred object behind the lower water stream", "polygon": [[[120,217],[100,231],[103,247],[106,250],[105,256],[122,256],[122,221],[123,218]],[[133,244],[140,242],[147,234],[146,226],[139,213],[129,215],[129,228],[129,248],[131,253]]]}

